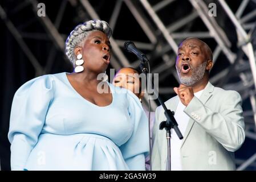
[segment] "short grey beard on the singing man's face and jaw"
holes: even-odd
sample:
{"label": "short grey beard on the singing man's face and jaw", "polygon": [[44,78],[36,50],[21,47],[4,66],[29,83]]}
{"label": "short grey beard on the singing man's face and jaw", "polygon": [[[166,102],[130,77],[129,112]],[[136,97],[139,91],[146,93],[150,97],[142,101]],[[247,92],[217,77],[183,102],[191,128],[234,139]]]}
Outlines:
{"label": "short grey beard on the singing man's face and jaw", "polygon": [[202,80],[202,78],[205,75],[205,68],[206,68],[206,61],[197,68],[191,68],[192,75],[190,77],[180,76],[180,73],[178,72],[178,77],[180,78],[181,84],[184,84],[186,86],[191,86],[196,82]]}

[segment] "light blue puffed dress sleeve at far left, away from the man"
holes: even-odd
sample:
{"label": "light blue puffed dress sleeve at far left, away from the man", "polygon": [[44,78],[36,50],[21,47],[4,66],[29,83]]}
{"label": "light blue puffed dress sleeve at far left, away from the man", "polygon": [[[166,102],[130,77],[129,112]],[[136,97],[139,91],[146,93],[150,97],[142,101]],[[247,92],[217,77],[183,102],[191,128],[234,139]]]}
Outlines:
{"label": "light blue puffed dress sleeve at far left, away from the man", "polygon": [[53,97],[49,75],[34,78],[21,86],[13,98],[8,138],[11,143],[11,169],[23,170],[42,131]]}

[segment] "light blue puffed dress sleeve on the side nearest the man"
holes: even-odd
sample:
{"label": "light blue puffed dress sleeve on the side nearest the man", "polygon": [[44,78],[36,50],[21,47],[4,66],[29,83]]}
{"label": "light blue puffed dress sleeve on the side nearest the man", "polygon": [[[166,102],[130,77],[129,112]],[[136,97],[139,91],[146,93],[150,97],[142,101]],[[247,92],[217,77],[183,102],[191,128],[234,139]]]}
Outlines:
{"label": "light blue puffed dress sleeve on the side nearest the man", "polygon": [[127,99],[129,115],[134,123],[133,133],[120,150],[130,170],[145,170],[145,156],[149,152],[148,118],[139,98],[129,90]]}

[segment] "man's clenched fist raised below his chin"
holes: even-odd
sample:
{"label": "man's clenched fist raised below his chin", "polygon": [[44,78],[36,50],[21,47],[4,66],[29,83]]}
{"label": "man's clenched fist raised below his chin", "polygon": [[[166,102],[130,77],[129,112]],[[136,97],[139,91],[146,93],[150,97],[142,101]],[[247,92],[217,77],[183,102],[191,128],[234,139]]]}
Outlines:
{"label": "man's clenched fist raised below his chin", "polygon": [[174,87],[173,90],[178,97],[180,97],[182,104],[185,106],[188,106],[189,102],[194,97],[193,89],[190,86],[180,84],[178,88]]}

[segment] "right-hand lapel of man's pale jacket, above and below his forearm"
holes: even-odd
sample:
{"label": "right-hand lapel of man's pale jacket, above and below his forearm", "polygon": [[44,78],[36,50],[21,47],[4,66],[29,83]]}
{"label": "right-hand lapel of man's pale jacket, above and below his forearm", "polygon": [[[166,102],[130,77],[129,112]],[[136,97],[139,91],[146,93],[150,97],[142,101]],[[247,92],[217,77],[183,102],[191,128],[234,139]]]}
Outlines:
{"label": "right-hand lapel of man's pale jacket, above and below his forearm", "polygon": [[[200,101],[202,102],[202,104],[205,104],[209,98],[212,96],[212,92],[213,92],[214,86],[208,82],[208,84],[205,86],[205,90],[204,92],[201,94],[200,96]],[[192,129],[194,125],[194,119],[190,118],[189,122],[188,122],[188,126],[186,126],[186,130],[182,139],[182,143],[181,143],[181,147],[183,146],[186,138],[188,137],[190,130]]]}

